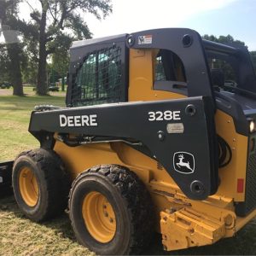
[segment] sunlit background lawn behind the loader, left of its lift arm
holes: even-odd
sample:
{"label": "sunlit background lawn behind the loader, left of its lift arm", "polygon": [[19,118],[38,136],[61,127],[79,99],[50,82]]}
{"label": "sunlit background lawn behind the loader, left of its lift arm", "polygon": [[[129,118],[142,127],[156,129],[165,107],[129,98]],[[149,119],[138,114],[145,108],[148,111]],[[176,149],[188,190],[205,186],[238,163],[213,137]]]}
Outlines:
{"label": "sunlit background lawn behind the loader, left of its lift arm", "polygon": [[[31,88],[26,91],[31,92]],[[0,95],[0,160],[14,159],[38,141],[27,131],[30,114],[36,105],[65,106],[64,96],[1,96]]]}

